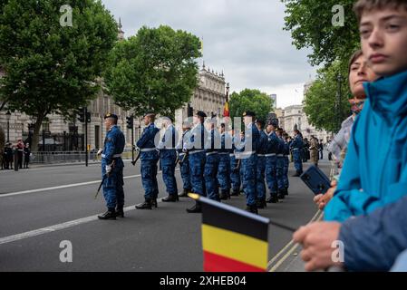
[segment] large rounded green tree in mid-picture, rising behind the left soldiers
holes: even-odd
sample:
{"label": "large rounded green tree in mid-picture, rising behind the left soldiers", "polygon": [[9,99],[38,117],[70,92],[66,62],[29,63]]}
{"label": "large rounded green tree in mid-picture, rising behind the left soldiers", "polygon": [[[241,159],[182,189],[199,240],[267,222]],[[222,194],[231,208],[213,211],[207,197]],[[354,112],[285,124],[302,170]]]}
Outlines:
{"label": "large rounded green tree in mid-picture, rising behind the left soldiers", "polygon": [[111,51],[107,92],[136,116],[147,111],[172,116],[198,86],[199,48],[195,35],[165,25],[143,26]]}

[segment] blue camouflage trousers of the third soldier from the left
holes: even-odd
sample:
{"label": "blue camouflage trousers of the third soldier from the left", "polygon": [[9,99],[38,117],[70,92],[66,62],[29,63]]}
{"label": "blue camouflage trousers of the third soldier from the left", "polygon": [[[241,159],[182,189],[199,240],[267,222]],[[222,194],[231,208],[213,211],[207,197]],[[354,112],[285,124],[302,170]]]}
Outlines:
{"label": "blue camouflage trousers of the third soldier from the left", "polygon": [[162,170],[162,179],[164,180],[167,193],[172,196],[178,196],[177,179],[175,179],[175,162],[177,161],[177,152],[175,150],[160,151],[160,165]]}

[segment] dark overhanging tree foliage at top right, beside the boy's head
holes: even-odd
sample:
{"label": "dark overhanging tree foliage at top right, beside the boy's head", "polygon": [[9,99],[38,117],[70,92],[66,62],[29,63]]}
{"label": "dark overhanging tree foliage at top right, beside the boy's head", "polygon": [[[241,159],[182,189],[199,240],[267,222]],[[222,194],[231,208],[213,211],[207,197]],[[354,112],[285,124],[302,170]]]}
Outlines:
{"label": "dark overhanging tree foliage at top right, beside the boy's head", "polygon": [[[311,48],[308,55],[312,65],[330,64],[335,60],[347,62],[360,47],[354,0],[282,0],[286,5],[285,30],[291,31],[297,49]],[[344,26],[334,25],[337,10],[344,7]]]}

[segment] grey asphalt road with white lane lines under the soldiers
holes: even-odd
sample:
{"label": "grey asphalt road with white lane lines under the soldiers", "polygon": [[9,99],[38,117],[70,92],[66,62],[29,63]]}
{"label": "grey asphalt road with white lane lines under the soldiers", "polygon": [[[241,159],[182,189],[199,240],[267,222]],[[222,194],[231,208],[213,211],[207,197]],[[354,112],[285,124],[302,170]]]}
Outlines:
{"label": "grey asphalt road with white lane lines under the soldiers", "polygon": [[[321,168],[329,173],[327,160]],[[158,209],[136,210],[134,204],[143,200],[139,167],[126,163],[124,176],[126,218],[100,221],[95,215],[105,210],[102,194],[94,199],[100,166],[0,171],[0,271],[202,271],[200,215],[185,211],[193,201],[181,198]],[[160,198],[165,197],[160,174],[158,179]],[[179,171],[177,179],[180,191]],[[315,218],[312,198],[300,179],[290,177],[289,196],[260,215],[299,227]],[[245,198],[227,203],[244,208]],[[286,229],[269,227],[270,260],[291,237]],[[73,246],[72,263],[60,261],[65,240]]]}

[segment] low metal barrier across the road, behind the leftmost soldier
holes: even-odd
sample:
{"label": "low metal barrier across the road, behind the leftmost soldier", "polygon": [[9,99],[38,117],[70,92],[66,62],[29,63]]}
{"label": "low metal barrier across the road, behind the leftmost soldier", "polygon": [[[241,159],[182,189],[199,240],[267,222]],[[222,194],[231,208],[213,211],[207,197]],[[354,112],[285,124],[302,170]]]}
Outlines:
{"label": "low metal barrier across the road, behind the leftmost soldier", "polygon": [[[90,162],[101,161],[101,156],[96,151],[88,152]],[[125,149],[121,158],[131,160],[131,149]],[[30,163],[34,164],[54,164],[54,163],[75,163],[84,162],[86,154],[83,151],[38,151],[32,152]]]}

